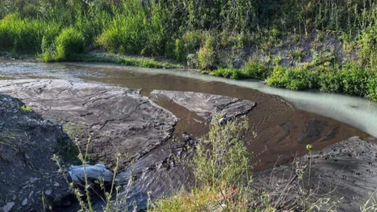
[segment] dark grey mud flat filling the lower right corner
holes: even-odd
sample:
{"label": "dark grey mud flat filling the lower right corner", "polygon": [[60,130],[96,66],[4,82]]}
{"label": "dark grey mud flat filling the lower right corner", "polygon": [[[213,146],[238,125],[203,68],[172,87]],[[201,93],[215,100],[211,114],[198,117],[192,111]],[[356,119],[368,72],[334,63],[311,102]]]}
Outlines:
{"label": "dark grey mud flat filling the lower right corner", "polygon": [[[377,142],[352,137],[311,154],[297,158],[304,170],[304,182],[309,180],[309,188],[319,195],[328,194],[331,201],[339,201],[338,211],[359,211],[377,189]],[[254,174],[254,186],[271,189],[276,193],[295,197],[298,190],[284,190],[297,184],[295,164],[284,164],[273,169]],[[306,184],[305,183],[305,184]]]}

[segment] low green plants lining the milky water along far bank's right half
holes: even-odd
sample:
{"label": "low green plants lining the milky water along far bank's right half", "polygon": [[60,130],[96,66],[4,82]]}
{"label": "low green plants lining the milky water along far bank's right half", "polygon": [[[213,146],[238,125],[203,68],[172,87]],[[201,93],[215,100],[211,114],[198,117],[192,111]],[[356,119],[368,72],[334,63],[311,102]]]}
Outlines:
{"label": "low green plants lining the milky water along far bank's right half", "polygon": [[219,68],[210,71],[210,75],[243,79],[254,78],[264,80],[268,85],[291,90],[318,89],[324,92],[337,92],[356,95],[377,101],[377,71],[371,67],[360,67],[357,63],[345,63],[342,66],[326,61],[301,66],[285,67],[269,65],[251,58],[242,69]]}

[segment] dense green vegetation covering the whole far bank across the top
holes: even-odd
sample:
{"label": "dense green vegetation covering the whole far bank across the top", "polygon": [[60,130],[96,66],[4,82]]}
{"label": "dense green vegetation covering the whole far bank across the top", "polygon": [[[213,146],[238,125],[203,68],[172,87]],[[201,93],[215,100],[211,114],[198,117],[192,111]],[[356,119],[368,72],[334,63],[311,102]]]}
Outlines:
{"label": "dense green vegetation covering the whole far bank across the top", "polygon": [[[166,57],[215,76],[377,101],[375,0],[0,0],[0,18],[0,51],[12,55],[179,67],[93,57],[86,50]],[[312,35],[310,51],[299,46]],[[321,46],[329,35],[341,50]],[[296,44],[287,46],[289,40]],[[288,50],[276,55],[273,49],[283,47]],[[337,58],[338,51],[349,57]]]}

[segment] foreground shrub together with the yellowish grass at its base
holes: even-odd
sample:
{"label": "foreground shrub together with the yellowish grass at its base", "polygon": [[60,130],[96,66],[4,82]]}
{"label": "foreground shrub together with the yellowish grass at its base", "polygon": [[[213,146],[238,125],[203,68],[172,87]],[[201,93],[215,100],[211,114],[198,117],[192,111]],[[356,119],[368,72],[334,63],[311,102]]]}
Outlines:
{"label": "foreground shrub together with the yellowish grass at its base", "polygon": [[[199,187],[167,200],[158,200],[148,211],[225,211],[249,209],[250,194],[244,186],[251,182],[250,155],[241,132],[248,128],[245,118],[221,123],[216,114],[208,135],[196,145],[192,167]],[[229,198],[221,198],[229,197]],[[220,198],[219,198],[220,197]]]}

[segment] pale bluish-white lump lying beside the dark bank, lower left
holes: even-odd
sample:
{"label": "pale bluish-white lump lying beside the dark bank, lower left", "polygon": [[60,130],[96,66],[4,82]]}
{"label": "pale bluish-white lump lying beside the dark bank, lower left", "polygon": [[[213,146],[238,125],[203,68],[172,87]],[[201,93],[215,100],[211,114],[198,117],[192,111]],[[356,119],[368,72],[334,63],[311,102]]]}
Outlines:
{"label": "pale bluish-white lump lying beside the dark bank, lower left", "polygon": [[[113,180],[113,172],[106,169],[103,164],[86,165],[85,171],[90,183],[94,183],[99,178],[103,178],[106,183],[111,183]],[[85,184],[84,166],[71,166],[68,174],[74,183]]]}

